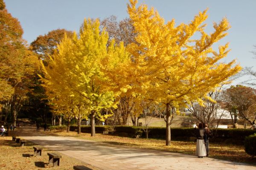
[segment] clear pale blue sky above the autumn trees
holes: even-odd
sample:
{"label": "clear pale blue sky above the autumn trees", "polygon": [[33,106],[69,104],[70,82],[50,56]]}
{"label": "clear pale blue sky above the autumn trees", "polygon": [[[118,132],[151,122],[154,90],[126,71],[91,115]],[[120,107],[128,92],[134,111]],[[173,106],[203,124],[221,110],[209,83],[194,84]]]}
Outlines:
{"label": "clear pale blue sky above the autumn trees", "polygon": [[[78,31],[84,18],[116,15],[128,17],[128,0],[4,0],[6,8],[16,17],[24,30],[23,38],[31,43],[39,35],[58,28]],[[250,51],[256,49],[256,0],[139,0],[154,7],[166,21],[175,19],[176,25],[189,23],[198,11],[208,8],[206,31],[213,31],[212,23],[227,17],[232,28],[228,36],[217,43],[230,42],[232,51],[225,61],[237,59],[242,67],[256,65]],[[243,81],[244,79],[240,79]],[[236,81],[239,83],[239,81]]]}

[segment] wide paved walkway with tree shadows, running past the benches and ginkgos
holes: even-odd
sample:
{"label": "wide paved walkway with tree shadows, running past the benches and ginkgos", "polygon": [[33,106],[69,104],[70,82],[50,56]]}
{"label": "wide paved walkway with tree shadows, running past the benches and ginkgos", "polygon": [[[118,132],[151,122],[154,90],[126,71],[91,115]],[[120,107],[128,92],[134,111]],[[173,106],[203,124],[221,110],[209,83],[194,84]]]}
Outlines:
{"label": "wide paved walkway with tree shadows, running past the benches and ginkgos", "polygon": [[256,170],[256,166],[180,153],[116,146],[67,136],[46,136],[35,127],[19,135],[102,170]]}

